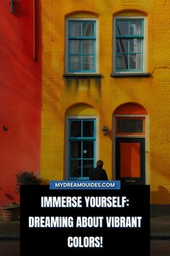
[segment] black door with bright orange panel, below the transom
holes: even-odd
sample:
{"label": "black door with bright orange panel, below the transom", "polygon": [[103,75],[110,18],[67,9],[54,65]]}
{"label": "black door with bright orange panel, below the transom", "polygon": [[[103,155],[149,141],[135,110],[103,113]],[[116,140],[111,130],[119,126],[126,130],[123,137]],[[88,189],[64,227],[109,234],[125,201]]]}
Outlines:
{"label": "black door with bright orange panel, below the transom", "polygon": [[145,138],[116,138],[116,179],[145,184]]}

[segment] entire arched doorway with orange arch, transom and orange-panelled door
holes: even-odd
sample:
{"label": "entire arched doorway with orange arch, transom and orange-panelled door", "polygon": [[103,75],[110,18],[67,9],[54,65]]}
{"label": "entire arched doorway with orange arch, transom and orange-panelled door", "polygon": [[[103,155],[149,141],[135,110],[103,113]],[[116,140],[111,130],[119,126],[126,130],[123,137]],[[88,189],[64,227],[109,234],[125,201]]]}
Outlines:
{"label": "entire arched doorway with orange arch, transom and orange-panelled door", "polygon": [[149,184],[146,109],[137,103],[117,107],[113,132],[113,179],[122,184]]}

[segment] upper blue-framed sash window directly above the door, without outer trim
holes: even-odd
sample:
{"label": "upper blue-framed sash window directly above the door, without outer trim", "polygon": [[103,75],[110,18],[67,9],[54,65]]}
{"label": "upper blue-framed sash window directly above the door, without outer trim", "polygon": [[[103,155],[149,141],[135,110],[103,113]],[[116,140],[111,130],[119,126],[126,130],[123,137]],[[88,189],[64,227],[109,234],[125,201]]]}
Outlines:
{"label": "upper blue-framed sash window directly above the door, without outer trim", "polygon": [[143,19],[116,19],[115,70],[143,72]]}

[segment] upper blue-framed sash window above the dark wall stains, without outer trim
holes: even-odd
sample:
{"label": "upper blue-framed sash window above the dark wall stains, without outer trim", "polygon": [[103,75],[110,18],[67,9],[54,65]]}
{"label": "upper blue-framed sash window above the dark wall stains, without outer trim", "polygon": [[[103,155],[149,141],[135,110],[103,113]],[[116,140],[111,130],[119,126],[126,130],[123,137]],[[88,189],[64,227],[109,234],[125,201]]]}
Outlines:
{"label": "upper blue-framed sash window above the dark wall stains, without outer trim", "polygon": [[96,21],[68,20],[68,72],[96,72]]}

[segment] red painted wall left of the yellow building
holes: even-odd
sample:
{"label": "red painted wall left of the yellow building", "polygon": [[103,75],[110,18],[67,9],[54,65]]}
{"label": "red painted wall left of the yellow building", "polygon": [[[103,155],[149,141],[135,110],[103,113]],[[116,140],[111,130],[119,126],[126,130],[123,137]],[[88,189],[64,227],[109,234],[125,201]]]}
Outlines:
{"label": "red painted wall left of the yellow building", "polygon": [[20,169],[40,171],[41,33],[35,1],[37,61],[34,0],[15,0],[14,14],[9,0],[0,3],[0,205],[19,201],[15,174]]}

